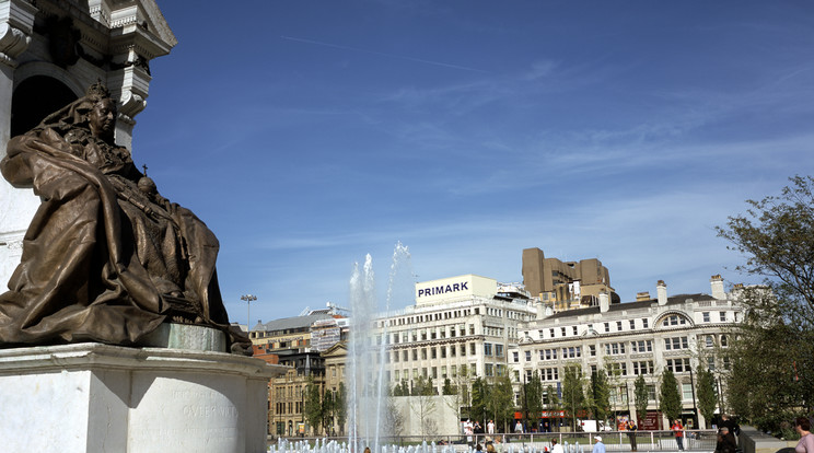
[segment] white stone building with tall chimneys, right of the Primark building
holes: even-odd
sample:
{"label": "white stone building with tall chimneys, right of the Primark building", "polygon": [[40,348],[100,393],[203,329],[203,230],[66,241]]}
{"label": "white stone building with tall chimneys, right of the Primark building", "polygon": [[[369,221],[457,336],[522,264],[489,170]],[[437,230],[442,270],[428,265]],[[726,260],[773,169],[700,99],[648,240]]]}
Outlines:
{"label": "white stone building with tall chimneys, right of the Primark building", "polygon": [[[742,307],[724,292],[721,276],[711,279],[712,295],[668,297],[663,281],[659,281],[656,293],[655,299],[640,293],[636,302],[613,305],[607,297],[601,297],[598,306],[548,313],[520,324],[522,338],[509,350],[514,381],[527,381],[537,371],[544,388],[551,385],[558,390],[567,365],[581,365],[585,376],[604,369],[610,376],[612,409],[617,416],[637,417],[633,382],[643,374],[650,390],[646,425],[652,427],[659,376],[670,369],[679,383],[685,425],[706,427],[697,411],[691,370],[706,367],[714,372],[718,385],[724,383],[720,374],[729,369],[729,330],[742,321]],[[547,421],[551,426],[559,422],[556,418]],[[661,428],[665,422],[662,420]]]}

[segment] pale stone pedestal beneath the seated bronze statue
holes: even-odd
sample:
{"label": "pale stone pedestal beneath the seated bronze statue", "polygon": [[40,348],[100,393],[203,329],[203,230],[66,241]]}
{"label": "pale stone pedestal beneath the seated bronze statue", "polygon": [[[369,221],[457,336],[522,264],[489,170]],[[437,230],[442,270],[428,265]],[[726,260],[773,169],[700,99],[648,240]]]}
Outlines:
{"label": "pale stone pedestal beneath the seated bronze statue", "polygon": [[94,342],[0,349],[0,450],[266,452],[268,380],[283,369]]}

